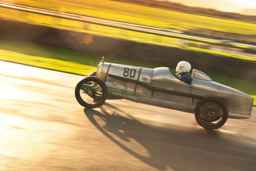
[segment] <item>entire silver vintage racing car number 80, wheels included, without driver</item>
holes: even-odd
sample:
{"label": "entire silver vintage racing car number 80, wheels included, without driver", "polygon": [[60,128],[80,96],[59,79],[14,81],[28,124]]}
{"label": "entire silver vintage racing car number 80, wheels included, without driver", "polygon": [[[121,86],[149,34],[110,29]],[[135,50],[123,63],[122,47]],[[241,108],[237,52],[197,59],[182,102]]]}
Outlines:
{"label": "entire silver vintage racing car number 80, wheels included, without driver", "polygon": [[199,125],[220,128],[227,118],[250,119],[253,98],[236,89],[213,82],[201,71],[193,70],[186,84],[167,67],[155,69],[107,63],[76,86],[78,103],[96,108],[108,99],[128,99],[187,113],[195,113]]}

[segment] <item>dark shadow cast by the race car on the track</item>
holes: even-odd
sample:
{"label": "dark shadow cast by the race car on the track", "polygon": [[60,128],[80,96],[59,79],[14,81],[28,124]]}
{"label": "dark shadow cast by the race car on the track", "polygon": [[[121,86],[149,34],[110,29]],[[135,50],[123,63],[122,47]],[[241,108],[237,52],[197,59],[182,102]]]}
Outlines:
{"label": "dark shadow cast by the race car on the track", "polygon": [[[113,109],[108,113],[106,108]],[[256,150],[252,144],[242,143],[235,135],[220,131],[205,130],[188,132],[184,130],[154,127],[143,124],[123,110],[105,103],[101,112],[84,109],[85,115],[105,136],[129,154],[159,170],[243,170],[254,168]],[[101,126],[94,116],[106,123]],[[111,134],[118,138],[114,138]],[[122,141],[135,140],[149,155],[140,154],[140,149],[129,148]],[[248,153],[250,151],[250,153]],[[239,156],[239,157],[237,157]],[[240,159],[240,161],[236,161]],[[241,162],[244,162],[241,164]]]}

